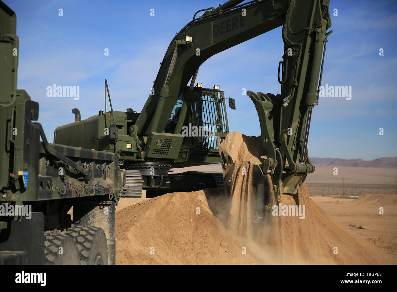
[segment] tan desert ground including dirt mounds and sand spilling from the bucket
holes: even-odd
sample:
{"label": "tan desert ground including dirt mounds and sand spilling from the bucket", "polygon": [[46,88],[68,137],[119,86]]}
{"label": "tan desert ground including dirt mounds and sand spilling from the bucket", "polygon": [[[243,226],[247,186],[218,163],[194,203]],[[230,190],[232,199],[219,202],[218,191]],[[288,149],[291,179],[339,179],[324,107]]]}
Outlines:
{"label": "tan desert ground including dirt mounds and sand spilling from the bucket", "polygon": [[[226,145],[238,158],[236,169],[247,160],[260,163],[244,137],[229,139],[238,151]],[[174,169],[190,170],[222,172],[222,167]],[[251,200],[250,177],[229,171],[229,198],[223,190],[206,189],[121,199],[116,263],[397,264],[396,169],[339,166],[335,175],[333,166],[318,166],[296,196],[280,195],[274,202],[305,205],[306,220],[269,213],[260,223],[250,219],[250,203],[244,203]],[[360,197],[345,199],[343,194]]]}

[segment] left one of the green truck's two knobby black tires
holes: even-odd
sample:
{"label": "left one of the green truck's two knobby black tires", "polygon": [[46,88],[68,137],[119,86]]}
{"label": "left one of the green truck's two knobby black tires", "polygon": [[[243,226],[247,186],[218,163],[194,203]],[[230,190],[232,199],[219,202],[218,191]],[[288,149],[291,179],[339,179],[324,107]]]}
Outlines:
{"label": "left one of the green truck's two knobby black tires", "polygon": [[59,230],[44,232],[44,256],[47,265],[78,265],[79,252],[70,236]]}

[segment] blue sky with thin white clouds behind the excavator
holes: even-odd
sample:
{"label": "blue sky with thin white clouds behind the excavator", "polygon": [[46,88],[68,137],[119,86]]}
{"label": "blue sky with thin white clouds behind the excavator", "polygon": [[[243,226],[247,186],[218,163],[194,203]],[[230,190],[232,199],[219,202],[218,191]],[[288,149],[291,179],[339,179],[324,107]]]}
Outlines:
{"label": "blue sky with thin white clouds behind the excavator", "polygon": [[[28,1],[3,0],[17,14],[18,89],[40,104],[39,122],[48,141],[57,126],[104,109],[107,78],[114,110],[140,112],[168,44],[194,13],[216,7],[204,1]],[[225,2],[226,0],[222,1]],[[58,9],[63,16],[58,16]],[[150,9],[154,16],[150,16]],[[322,85],[351,86],[352,99],[320,97],[313,110],[311,157],[372,160],[397,156],[397,3],[331,0]],[[109,56],[104,56],[104,49]],[[384,56],[379,56],[379,49]],[[236,100],[229,128],[260,135],[254,104],[241,89],[278,94],[281,27],[208,59],[197,82],[219,84]],[[79,86],[80,99],[47,97],[46,87]],[[109,107],[108,107],[109,108]],[[379,135],[384,128],[384,135]]]}

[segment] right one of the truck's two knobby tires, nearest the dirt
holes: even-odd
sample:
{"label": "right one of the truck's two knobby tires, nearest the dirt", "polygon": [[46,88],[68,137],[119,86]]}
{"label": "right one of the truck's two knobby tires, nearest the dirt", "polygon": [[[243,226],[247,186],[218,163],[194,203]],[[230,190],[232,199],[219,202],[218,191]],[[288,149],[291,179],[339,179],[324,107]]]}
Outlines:
{"label": "right one of the truck's two knobby tires, nearest the dirt", "polygon": [[79,225],[68,228],[65,234],[74,238],[81,265],[108,264],[108,244],[102,228]]}

